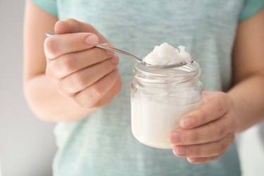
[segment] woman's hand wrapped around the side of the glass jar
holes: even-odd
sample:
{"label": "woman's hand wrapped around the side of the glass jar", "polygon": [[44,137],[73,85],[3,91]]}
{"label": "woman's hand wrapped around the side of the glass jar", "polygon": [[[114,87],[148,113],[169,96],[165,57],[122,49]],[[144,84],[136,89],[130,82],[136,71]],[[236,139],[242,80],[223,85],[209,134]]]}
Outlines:
{"label": "woman's hand wrapped around the side of the glass jar", "polygon": [[239,118],[232,98],[224,92],[203,92],[203,105],[180,119],[180,129],[170,135],[175,156],[190,163],[220,158],[234,142]]}

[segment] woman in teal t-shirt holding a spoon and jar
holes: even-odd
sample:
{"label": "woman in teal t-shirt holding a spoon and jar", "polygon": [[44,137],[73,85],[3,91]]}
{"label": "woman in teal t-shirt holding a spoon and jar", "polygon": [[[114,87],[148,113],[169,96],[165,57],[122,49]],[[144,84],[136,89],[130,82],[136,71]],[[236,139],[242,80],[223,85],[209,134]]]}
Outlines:
{"label": "woman in teal t-shirt holding a spoon and jar", "polygon": [[[27,0],[25,94],[58,122],[54,175],[241,175],[234,135],[264,117],[263,4]],[[206,90],[170,135],[174,155],[132,137],[134,63],[94,47],[146,56],[163,42],[187,47]]]}

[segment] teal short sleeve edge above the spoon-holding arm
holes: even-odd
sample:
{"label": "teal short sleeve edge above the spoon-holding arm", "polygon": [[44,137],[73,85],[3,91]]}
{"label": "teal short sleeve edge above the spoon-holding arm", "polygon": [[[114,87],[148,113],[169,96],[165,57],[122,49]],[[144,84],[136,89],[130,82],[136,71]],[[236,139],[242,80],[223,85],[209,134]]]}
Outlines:
{"label": "teal short sleeve edge above the spoon-holding arm", "polygon": [[44,11],[58,16],[56,0],[31,0],[34,4],[42,8]]}

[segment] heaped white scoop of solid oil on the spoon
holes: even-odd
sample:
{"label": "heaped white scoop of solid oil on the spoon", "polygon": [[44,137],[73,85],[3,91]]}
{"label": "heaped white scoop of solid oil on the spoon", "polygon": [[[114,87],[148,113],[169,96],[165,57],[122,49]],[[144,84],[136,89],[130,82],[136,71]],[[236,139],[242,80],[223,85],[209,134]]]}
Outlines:
{"label": "heaped white scoop of solid oil on the spoon", "polygon": [[193,61],[191,55],[185,51],[185,46],[178,46],[178,49],[163,43],[155,46],[153,51],[143,58],[143,61],[151,65],[173,65],[181,62],[188,64]]}

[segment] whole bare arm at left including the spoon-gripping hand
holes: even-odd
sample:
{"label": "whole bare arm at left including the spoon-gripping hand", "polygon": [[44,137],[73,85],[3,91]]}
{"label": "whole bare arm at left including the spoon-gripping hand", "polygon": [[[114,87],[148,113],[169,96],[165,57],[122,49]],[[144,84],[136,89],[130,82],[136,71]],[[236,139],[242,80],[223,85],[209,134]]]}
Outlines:
{"label": "whole bare arm at left including the spoon-gripping hand", "polygon": [[[37,18],[35,18],[36,16]],[[90,25],[79,23],[76,20],[57,23],[57,20],[58,19],[53,15],[46,13],[38,6],[32,4],[30,0],[26,1],[24,30],[25,96],[32,111],[42,120],[78,120],[94,112],[97,108],[105,106],[111,101],[113,96],[120,92],[120,77],[118,72],[114,71],[117,66],[117,63],[115,63],[108,64],[107,68],[104,66],[103,69],[108,70],[107,73],[106,71],[102,72],[104,75],[97,77],[96,81],[93,80],[91,82],[91,79],[90,82],[88,82],[87,80],[82,79],[84,75],[81,75],[79,70],[82,70],[83,68],[77,68],[76,65],[75,68],[73,68],[74,64],[70,64],[69,61],[71,58],[75,58],[74,54],[70,54],[70,49],[72,49],[70,44],[72,44],[72,41],[76,42],[76,44],[73,44],[74,46],[80,46],[80,48],[86,49],[90,48],[89,50],[85,50],[85,54],[94,56],[94,58],[97,58],[98,55],[101,57],[101,64],[96,64],[97,61],[94,61],[93,63],[96,65],[93,69],[97,68],[98,72],[100,72],[103,65],[106,65],[105,61],[109,62],[109,59],[111,60],[112,58],[106,55],[106,51],[93,49],[92,46],[85,45],[83,41],[80,41],[82,37],[87,37],[87,35],[92,34],[88,33],[91,28]],[[56,25],[55,30],[57,34],[61,35],[59,37],[52,37],[52,39],[46,40],[45,42],[45,32],[54,32],[54,25]],[[82,32],[82,34],[68,34],[70,37],[63,35],[73,32]],[[99,36],[96,31],[93,30],[92,32]],[[70,41],[70,39],[72,39],[72,41]],[[101,41],[103,41],[103,39],[101,39]],[[46,58],[44,53],[44,42],[46,55],[49,55],[49,58]],[[52,46],[51,43],[55,45]],[[63,44],[65,46],[63,46]],[[65,50],[58,49],[55,46],[61,46],[61,48]],[[66,49],[68,49],[68,51]],[[83,52],[77,52],[76,50],[73,52],[80,56],[84,54]],[[97,55],[94,55],[94,53]],[[61,56],[58,56],[58,54]],[[67,68],[58,67],[59,64],[67,64],[65,58],[68,58]],[[84,57],[82,56],[82,58]],[[85,59],[85,61],[87,61],[87,56]],[[116,57],[115,60],[117,60]],[[80,65],[84,65],[83,60],[79,62]],[[51,65],[53,66],[51,67]],[[89,68],[90,65],[86,63],[86,66]],[[72,73],[73,69],[75,69],[75,74]],[[61,70],[63,70],[63,77],[58,76],[58,73],[62,72]],[[90,69],[85,69],[85,71],[89,72]],[[49,75],[49,79],[46,77],[45,72]],[[70,82],[68,81],[68,75],[70,74],[74,75],[77,81],[84,80],[82,85],[85,85],[85,87],[79,87],[77,92],[68,92],[65,90],[67,87],[75,88],[76,86],[75,84],[68,83]],[[101,79],[102,77],[104,77],[104,79]],[[64,82],[65,84],[61,85],[61,82]],[[90,84],[89,89],[92,89],[94,94],[96,93],[96,95],[93,96],[94,98],[87,98],[91,97],[89,96],[91,91],[87,90],[87,84]],[[102,87],[108,88],[105,89]],[[58,91],[58,89],[60,91]]]}

